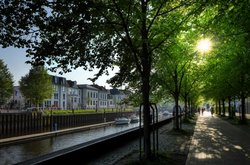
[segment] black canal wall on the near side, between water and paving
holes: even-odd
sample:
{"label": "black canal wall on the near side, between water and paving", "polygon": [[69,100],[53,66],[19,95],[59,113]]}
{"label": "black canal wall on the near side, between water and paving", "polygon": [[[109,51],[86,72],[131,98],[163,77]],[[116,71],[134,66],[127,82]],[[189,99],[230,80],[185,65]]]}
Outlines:
{"label": "black canal wall on the near side, between water and paving", "polygon": [[[160,121],[154,127],[162,127],[172,121],[172,118],[168,118]],[[124,128],[134,125],[134,128],[125,129],[116,133],[102,136],[85,143],[80,143],[65,149],[61,149],[55,152],[51,152],[45,155],[35,157],[26,161],[22,161],[19,164],[30,165],[30,164],[54,164],[58,162],[80,162],[80,164],[87,164],[98,157],[115,151],[122,146],[129,144],[131,141],[140,137],[143,133],[143,128],[139,128],[134,124],[115,126],[115,128]]]}

